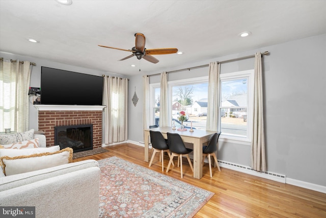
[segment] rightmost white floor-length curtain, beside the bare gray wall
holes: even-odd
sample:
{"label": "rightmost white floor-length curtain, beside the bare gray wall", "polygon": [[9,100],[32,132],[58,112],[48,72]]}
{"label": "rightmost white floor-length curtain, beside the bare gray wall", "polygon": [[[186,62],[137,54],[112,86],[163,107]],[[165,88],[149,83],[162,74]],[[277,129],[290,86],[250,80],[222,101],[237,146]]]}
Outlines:
{"label": "rightmost white floor-length curtain, beside the bare gray wall", "polygon": [[255,171],[266,171],[265,137],[263,118],[263,87],[261,53],[255,54],[254,114],[251,167]]}

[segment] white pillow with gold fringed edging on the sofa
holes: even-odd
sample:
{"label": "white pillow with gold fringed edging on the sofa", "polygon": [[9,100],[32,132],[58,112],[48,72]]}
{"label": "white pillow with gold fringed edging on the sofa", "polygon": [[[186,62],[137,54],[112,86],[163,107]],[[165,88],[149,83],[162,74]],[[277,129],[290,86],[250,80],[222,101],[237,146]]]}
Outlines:
{"label": "white pillow with gold fringed edging on the sofa", "polygon": [[73,150],[71,148],[65,148],[57,152],[46,152],[17,157],[4,156],[0,159],[3,165],[4,174],[10,176],[71,163],[72,154]]}

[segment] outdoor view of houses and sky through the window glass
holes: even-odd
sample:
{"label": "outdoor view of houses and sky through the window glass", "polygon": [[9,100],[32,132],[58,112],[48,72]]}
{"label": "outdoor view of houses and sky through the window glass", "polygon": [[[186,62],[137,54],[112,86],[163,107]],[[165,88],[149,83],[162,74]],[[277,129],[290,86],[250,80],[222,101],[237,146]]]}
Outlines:
{"label": "outdoor view of houses and sky through the window glass", "polygon": [[[179,127],[180,111],[185,111],[185,128],[205,130],[207,120],[208,82],[173,85],[171,96],[172,125]],[[160,88],[154,88],[154,125],[158,126]],[[219,131],[226,135],[247,136],[248,78],[221,80]]]}

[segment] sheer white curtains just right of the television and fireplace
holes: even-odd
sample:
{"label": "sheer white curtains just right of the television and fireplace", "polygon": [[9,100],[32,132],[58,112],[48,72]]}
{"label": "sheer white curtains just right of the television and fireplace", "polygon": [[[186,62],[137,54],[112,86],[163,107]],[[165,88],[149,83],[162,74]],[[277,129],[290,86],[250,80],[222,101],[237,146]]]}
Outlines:
{"label": "sheer white curtains just right of the television and fireplace", "polygon": [[104,143],[128,138],[128,79],[103,77]]}

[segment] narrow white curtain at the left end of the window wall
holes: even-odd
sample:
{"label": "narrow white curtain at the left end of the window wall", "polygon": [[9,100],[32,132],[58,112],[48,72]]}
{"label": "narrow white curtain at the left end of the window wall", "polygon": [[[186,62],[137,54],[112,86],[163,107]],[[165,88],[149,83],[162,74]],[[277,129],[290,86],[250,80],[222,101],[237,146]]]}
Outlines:
{"label": "narrow white curtain at the left end of the window wall", "polygon": [[149,77],[143,76],[144,84],[144,105],[143,105],[143,129],[148,129],[150,125],[150,90]]}

